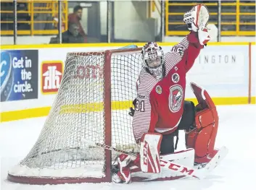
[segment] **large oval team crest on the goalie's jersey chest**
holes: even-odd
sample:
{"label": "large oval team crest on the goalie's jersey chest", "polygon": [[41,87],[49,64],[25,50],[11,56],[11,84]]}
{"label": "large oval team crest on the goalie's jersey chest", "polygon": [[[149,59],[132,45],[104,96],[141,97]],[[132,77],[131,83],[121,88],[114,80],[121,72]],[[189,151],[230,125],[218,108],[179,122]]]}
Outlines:
{"label": "large oval team crest on the goalie's jersey chest", "polygon": [[183,89],[180,85],[174,85],[170,87],[169,95],[169,109],[175,113],[181,109],[181,103],[183,100]]}

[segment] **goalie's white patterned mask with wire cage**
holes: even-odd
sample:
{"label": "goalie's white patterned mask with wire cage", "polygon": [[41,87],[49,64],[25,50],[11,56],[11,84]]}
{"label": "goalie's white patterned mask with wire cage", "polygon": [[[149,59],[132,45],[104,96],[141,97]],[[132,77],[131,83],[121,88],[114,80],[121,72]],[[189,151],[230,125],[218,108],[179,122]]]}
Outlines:
{"label": "goalie's white patterned mask with wire cage", "polygon": [[141,59],[144,67],[156,78],[162,79],[162,69],[164,60],[164,52],[157,43],[149,42],[142,48]]}

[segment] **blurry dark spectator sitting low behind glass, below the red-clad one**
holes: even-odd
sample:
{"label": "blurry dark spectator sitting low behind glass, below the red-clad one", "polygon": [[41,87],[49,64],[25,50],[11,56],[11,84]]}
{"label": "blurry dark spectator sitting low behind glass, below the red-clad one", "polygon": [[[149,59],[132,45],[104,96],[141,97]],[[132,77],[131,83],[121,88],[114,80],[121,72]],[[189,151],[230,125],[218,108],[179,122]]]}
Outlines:
{"label": "blurry dark spectator sitting low behind glass, below the red-clad one", "polygon": [[[50,43],[59,43],[59,36],[51,38]],[[68,30],[62,33],[62,43],[84,43],[84,37],[80,35],[76,23],[68,23]]]}

